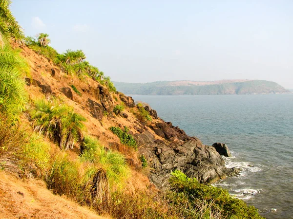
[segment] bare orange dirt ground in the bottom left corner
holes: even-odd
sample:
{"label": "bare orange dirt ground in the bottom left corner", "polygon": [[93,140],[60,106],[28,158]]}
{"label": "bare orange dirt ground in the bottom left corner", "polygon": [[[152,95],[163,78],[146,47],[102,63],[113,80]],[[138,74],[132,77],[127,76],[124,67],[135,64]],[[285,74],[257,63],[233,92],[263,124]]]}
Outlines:
{"label": "bare orange dirt ground in the bottom left corner", "polygon": [[65,197],[53,195],[41,180],[23,182],[0,171],[0,219],[109,219]]}

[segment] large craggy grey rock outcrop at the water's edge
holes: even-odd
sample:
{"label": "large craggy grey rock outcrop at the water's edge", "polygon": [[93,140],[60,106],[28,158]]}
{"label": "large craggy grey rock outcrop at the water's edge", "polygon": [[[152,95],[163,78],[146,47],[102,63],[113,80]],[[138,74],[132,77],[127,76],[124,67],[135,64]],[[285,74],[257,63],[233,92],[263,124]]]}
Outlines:
{"label": "large craggy grey rock outcrop at the water's edge", "polygon": [[[143,134],[141,134],[143,135]],[[164,143],[157,141],[139,145],[139,153],[143,154],[152,171],[151,182],[158,187],[167,187],[170,173],[179,169],[188,177],[196,178],[200,183],[213,183],[235,174],[225,167],[221,155],[212,146],[202,145],[200,141],[191,139],[182,143]]]}

